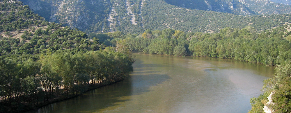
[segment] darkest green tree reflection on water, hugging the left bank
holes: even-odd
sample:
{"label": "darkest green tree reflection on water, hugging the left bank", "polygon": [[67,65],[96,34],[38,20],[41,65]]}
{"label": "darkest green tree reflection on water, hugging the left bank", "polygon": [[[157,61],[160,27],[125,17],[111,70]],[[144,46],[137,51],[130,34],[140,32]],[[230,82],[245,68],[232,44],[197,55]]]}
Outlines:
{"label": "darkest green tree reflection on water, hugging the left bank", "polygon": [[116,103],[129,101],[120,99],[120,97],[130,96],[132,94],[131,90],[131,81],[127,79],[30,112],[96,112],[99,109],[118,105]]}

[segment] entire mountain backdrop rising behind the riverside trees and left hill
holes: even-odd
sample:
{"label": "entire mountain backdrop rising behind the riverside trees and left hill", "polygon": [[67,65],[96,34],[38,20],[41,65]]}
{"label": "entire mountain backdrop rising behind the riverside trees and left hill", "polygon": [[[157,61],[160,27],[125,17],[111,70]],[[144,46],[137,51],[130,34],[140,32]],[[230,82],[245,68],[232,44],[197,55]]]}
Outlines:
{"label": "entire mountain backdrop rising behind the riverside trees and left hill", "polygon": [[[266,3],[248,0],[229,1],[230,3],[209,0],[207,2],[209,6],[204,1],[175,0],[21,1],[45,17],[47,21],[62,23],[64,26],[78,28],[86,33],[113,31],[142,33],[146,29],[163,30],[166,28],[184,32],[218,33],[222,28],[241,29],[246,26],[252,26],[256,31],[263,31],[291,23],[290,14],[266,15],[290,13],[290,6],[271,3],[267,0],[265,0]],[[208,7],[214,11],[205,11],[210,10]],[[235,14],[265,15],[239,16]]]}

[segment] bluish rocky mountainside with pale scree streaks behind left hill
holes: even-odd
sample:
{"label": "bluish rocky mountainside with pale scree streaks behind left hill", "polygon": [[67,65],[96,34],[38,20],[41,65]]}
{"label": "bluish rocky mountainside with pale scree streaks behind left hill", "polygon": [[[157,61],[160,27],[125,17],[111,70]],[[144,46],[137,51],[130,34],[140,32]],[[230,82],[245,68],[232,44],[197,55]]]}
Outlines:
{"label": "bluish rocky mountainside with pale scree streaks behind left hill", "polygon": [[[143,27],[141,8],[144,0],[21,0],[47,21],[63,23],[85,32],[123,31]],[[134,8],[134,10],[133,10]],[[139,19],[136,19],[136,17]],[[130,22],[128,22],[129,20]]]}

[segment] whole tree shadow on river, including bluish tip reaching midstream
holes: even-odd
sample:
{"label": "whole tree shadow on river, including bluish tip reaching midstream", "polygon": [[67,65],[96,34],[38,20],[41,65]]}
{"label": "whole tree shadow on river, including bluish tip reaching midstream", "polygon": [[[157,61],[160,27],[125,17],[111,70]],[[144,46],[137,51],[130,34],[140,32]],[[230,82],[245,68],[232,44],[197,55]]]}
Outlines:
{"label": "whole tree shadow on river, including bluish tip reaching midstream", "polygon": [[88,91],[68,100],[52,103],[29,112],[98,112],[120,103],[130,101],[131,96],[150,92],[150,87],[159,85],[170,77],[157,74],[152,68],[166,67],[166,64],[145,64],[141,60],[134,63],[134,71],[122,82]]}

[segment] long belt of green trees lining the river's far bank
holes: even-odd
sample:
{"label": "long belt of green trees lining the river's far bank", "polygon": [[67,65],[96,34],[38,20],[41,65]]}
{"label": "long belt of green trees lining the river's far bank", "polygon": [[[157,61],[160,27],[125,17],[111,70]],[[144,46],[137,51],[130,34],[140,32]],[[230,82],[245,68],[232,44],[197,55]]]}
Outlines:
{"label": "long belt of green trees lining the river's far bank", "polygon": [[140,35],[114,32],[93,36],[108,45],[124,40],[132,51],[149,54],[230,58],[272,66],[289,60],[291,56],[289,25],[260,34],[247,27],[241,30],[224,28],[220,33],[184,33],[164,29],[146,30]]}

